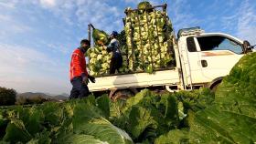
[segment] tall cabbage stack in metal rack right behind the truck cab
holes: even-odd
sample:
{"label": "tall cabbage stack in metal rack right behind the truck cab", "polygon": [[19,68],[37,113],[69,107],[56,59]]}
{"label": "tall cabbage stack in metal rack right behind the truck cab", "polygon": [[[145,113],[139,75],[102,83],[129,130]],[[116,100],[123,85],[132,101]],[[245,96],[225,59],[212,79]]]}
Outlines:
{"label": "tall cabbage stack in metal rack right behind the truck cab", "polygon": [[168,67],[173,61],[174,35],[166,12],[143,2],[137,10],[127,8],[125,13],[128,68],[152,73]]}

